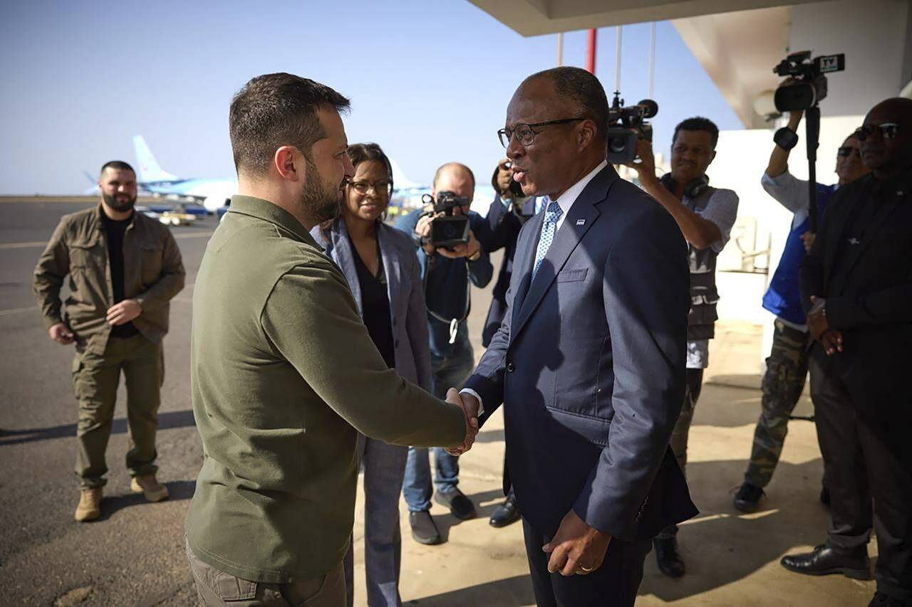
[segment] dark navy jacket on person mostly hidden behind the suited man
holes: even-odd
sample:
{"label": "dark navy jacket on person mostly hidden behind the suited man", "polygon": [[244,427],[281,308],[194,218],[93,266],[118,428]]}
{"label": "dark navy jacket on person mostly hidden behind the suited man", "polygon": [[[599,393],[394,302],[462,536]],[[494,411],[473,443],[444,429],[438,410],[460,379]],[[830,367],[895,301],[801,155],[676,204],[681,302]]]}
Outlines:
{"label": "dark navy jacket on person mostly hidden behind the suited man", "polygon": [[488,216],[475,238],[481,242],[486,252],[495,252],[503,249],[503,262],[497,273],[497,283],[491,297],[491,306],[488,308],[488,317],[482,327],[482,345],[491,345],[491,339],[503,322],[503,314],[507,310],[507,291],[510,288],[510,276],[513,275],[513,257],[516,254],[516,240],[523,223],[535,214],[535,197],[530,197],[523,202],[522,216],[507,210],[503,206],[500,196],[495,196]]}

